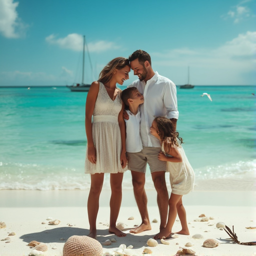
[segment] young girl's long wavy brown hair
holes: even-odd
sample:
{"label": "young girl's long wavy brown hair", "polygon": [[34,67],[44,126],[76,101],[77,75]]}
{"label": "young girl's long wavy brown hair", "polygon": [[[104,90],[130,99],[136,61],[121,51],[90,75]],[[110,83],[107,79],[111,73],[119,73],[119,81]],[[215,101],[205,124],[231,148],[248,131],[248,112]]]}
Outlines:
{"label": "young girl's long wavy brown hair", "polygon": [[183,139],[178,136],[178,132],[174,130],[172,121],[166,117],[158,116],[154,118],[157,134],[160,140],[163,141],[164,151],[169,152],[171,147],[179,146],[177,139],[180,140],[180,144],[183,143]]}

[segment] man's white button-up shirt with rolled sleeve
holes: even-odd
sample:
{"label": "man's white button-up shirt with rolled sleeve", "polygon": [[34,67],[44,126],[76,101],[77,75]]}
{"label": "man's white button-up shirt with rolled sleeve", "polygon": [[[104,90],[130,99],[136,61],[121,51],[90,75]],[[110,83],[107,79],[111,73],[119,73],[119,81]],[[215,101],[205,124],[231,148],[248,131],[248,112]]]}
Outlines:
{"label": "man's white button-up shirt with rolled sleeve", "polygon": [[140,105],[142,145],[160,147],[159,140],[150,134],[150,126],[156,116],[178,119],[176,85],[155,72],[146,83],[137,79],[128,87],[136,87],[144,96],[144,103]]}

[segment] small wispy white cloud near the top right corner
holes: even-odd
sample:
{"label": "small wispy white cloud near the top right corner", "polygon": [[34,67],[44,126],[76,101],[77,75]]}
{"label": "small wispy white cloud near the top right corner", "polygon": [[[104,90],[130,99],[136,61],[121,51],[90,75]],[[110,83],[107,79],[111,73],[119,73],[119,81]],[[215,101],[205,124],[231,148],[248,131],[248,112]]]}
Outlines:
{"label": "small wispy white cloud near the top right corner", "polygon": [[238,3],[235,6],[232,6],[231,9],[225,14],[222,15],[223,18],[232,18],[234,23],[239,23],[244,18],[253,16],[250,9],[247,6],[242,6],[242,4],[249,2],[250,0],[244,0]]}

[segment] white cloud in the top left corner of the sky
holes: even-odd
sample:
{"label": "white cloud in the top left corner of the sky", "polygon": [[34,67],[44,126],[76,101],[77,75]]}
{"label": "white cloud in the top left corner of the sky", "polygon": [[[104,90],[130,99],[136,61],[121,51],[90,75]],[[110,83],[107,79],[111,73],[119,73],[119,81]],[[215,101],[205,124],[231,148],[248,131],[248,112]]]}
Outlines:
{"label": "white cloud in the top left corner of the sky", "polygon": [[7,38],[20,37],[26,28],[18,17],[17,6],[13,0],[0,0],[0,33]]}

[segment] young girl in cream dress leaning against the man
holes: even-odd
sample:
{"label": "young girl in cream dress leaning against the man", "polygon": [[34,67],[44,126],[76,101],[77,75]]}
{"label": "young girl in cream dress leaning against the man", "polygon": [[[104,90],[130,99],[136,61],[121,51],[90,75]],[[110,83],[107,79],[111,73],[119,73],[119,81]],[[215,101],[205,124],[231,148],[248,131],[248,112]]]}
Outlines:
{"label": "young girl in cream dress leaning against the man", "polygon": [[150,133],[161,142],[161,152],[158,153],[158,159],[167,162],[166,167],[167,171],[169,171],[171,186],[167,224],[154,238],[168,238],[172,234],[171,229],[177,214],[181,230],[176,233],[189,234],[186,211],[182,204],[182,195],[193,190],[194,171],[181,146],[183,140],[178,136],[178,132],[175,131],[171,120],[162,116],[154,118]]}

